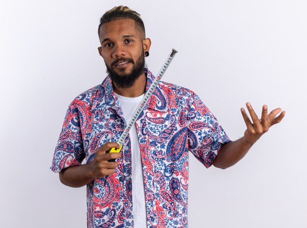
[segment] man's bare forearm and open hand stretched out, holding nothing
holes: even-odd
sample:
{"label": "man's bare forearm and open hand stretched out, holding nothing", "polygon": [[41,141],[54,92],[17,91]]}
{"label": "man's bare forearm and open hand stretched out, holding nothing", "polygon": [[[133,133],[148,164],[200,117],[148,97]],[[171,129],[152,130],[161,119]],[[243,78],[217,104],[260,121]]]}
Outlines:
{"label": "man's bare forearm and open hand stretched out, holding nothing", "polygon": [[[263,105],[261,119],[258,119],[258,116],[249,102],[246,103],[246,107],[252,117],[253,123],[245,110],[241,108],[241,113],[247,127],[244,136],[236,141],[222,145],[217,157],[212,162],[215,167],[226,169],[237,163],[246,155],[252,145],[266,133],[271,126],[281,122],[285,115],[285,111],[281,112],[281,108],[274,109],[268,114],[267,106]],[[280,112],[281,114],[275,117]]]}

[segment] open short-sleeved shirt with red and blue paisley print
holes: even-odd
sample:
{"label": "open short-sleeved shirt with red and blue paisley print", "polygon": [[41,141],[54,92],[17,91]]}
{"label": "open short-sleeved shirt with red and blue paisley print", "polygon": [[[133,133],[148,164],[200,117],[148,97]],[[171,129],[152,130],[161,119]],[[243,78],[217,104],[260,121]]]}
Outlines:
{"label": "open short-sleeved shirt with red and blue paisley print", "polygon": [[[149,89],[154,76],[147,70]],[[107,76],[70,104],[55,148],[51,170],[90,162],[126,126],[119,100]],[[230,139],[192,91],[160,82],[136,121],[143,164],[148,228],[187,228],[189,151],[209,167]],[[131,148],[126,138],[116,172],[87,184],[89,228],[133,227]]]}

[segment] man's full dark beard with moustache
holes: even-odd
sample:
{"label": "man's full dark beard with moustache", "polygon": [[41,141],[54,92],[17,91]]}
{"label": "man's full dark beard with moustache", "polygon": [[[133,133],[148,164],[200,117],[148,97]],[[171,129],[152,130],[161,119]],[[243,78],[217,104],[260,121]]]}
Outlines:
{"label": "man's full dark beard with moustache", "polygon": [[[125,61],[133,64],[133,68],[130,73],[118,74],[117,72],[115,72],[115,70],[112,67],[118,64],[120,61]],[[136,79],[138,79],[142,75],[142,73],[144,73],[146,70],[145,57],[143,52],[140,55],[140,57],[137,59],[136,63],[134,63],[133,59],[131,58],[123,57],[116,59],[113,63],[111,63],[110,67],[106,63],[105,66],[106,66],[106,72],[110,75],[112,82],[115,83],[118,88],[132,87]],[[120,71],[125,71],[125,68],[120,69]]]}

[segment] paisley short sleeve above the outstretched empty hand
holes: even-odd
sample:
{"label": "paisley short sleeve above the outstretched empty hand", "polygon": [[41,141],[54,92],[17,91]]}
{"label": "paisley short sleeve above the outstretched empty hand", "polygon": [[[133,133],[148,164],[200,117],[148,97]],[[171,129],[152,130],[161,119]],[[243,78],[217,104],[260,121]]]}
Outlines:
{"label": "paisley short sleeve above the outstretched empty hand", "polygon": [[188,103],[189,150],[208,168],[216,158],[222,144],[230,142],[230,139],[197,94],[194,93]]}

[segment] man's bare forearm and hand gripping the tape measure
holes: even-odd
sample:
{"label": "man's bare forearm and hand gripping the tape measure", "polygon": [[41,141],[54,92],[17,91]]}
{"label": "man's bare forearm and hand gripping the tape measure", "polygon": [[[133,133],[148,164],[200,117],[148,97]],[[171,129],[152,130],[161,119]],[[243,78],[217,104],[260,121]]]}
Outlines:
{"label": "man's bare forearm and hand gripping the tape measure", "polygon": [[102,178],[114,173],[118,163],[108,160],[118,159],[122,156],[120,153],[105,153],[113,147],[119,148],[119,145],[116,142],[107,142],[96,151],[93,161],[63,169],[59,173],[60,181],[70,187],[82,187],[95,178]]}

